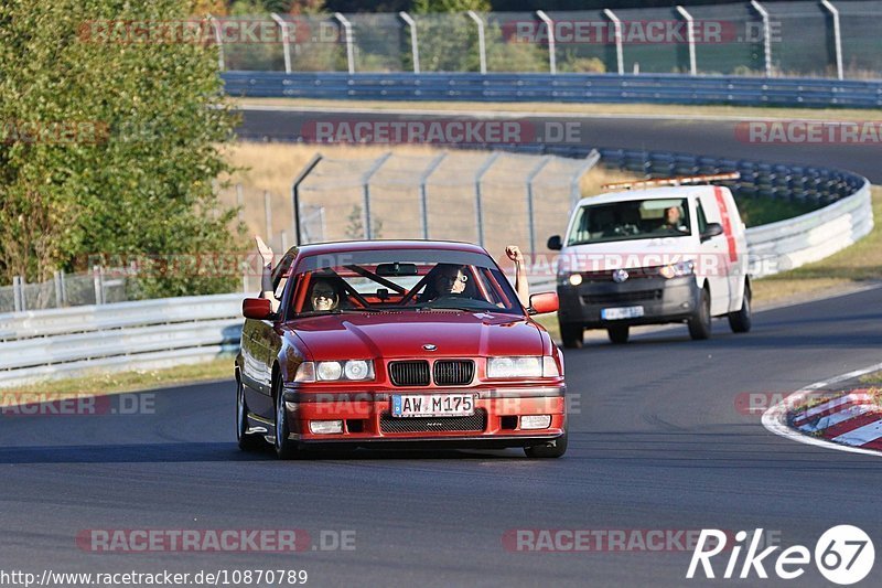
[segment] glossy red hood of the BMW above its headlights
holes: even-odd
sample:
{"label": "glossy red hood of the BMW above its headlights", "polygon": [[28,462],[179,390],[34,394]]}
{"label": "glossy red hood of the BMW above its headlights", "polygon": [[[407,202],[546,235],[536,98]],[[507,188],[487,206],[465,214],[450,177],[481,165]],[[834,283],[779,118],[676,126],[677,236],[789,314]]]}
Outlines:
{"label": "glossy red hood of the BMW above its headlights", "polygon": [[[541,355],[539,328],[492,312],[345,312],[288,323],[313,360]],[[435,345],[427,351],[423,345]]]}

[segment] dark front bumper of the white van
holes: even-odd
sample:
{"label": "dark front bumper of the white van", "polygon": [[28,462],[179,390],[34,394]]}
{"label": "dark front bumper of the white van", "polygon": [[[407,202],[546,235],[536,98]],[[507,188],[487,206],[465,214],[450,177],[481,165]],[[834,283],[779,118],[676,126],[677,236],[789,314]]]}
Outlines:
{"label": "dark front bumper of the white van", "polygon": [[[663,278],[641,277],[616,284],[612,280],[585,280],[579,286],[558,285],[563,324],[581,324],[588,329],[605,329],[616,324],[658,324],[688,319],[698,308],[700,289],[695,276]],[[639,318],[604,320],[606,308],[643,307]]]}

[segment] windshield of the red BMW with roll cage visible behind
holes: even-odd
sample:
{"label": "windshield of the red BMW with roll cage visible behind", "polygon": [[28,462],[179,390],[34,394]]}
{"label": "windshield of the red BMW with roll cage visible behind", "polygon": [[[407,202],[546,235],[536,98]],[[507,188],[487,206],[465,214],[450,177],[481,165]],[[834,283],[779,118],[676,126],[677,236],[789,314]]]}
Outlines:
{"label": "windshield of the red BMW with roll cage visible behind", "polygon": [[305,257],[295,269],[289,316],[456,309],[523,314],[491,257],[399,249]]}

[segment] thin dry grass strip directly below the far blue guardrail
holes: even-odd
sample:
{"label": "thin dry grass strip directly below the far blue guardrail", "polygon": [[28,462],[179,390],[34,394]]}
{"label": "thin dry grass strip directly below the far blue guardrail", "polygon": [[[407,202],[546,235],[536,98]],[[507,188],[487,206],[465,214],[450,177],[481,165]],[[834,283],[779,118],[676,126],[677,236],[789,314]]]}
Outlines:
{"label": "thin dry grass strip directly below the far blue guardrail", "polygon": [[803,118],[819,120],[875,120],[872,109],[849,108],[755,108],[751,106],[688,106],[676,104],[559,104],[559,103],[469,103],[469,101],[384,101],[319,100],[305,98],[229,98],[236,106],[283,106],[289,108],[367,108],[376,110],[466,110],[469,113],[560,113],[585,116],[702,116],[756,118]]}

